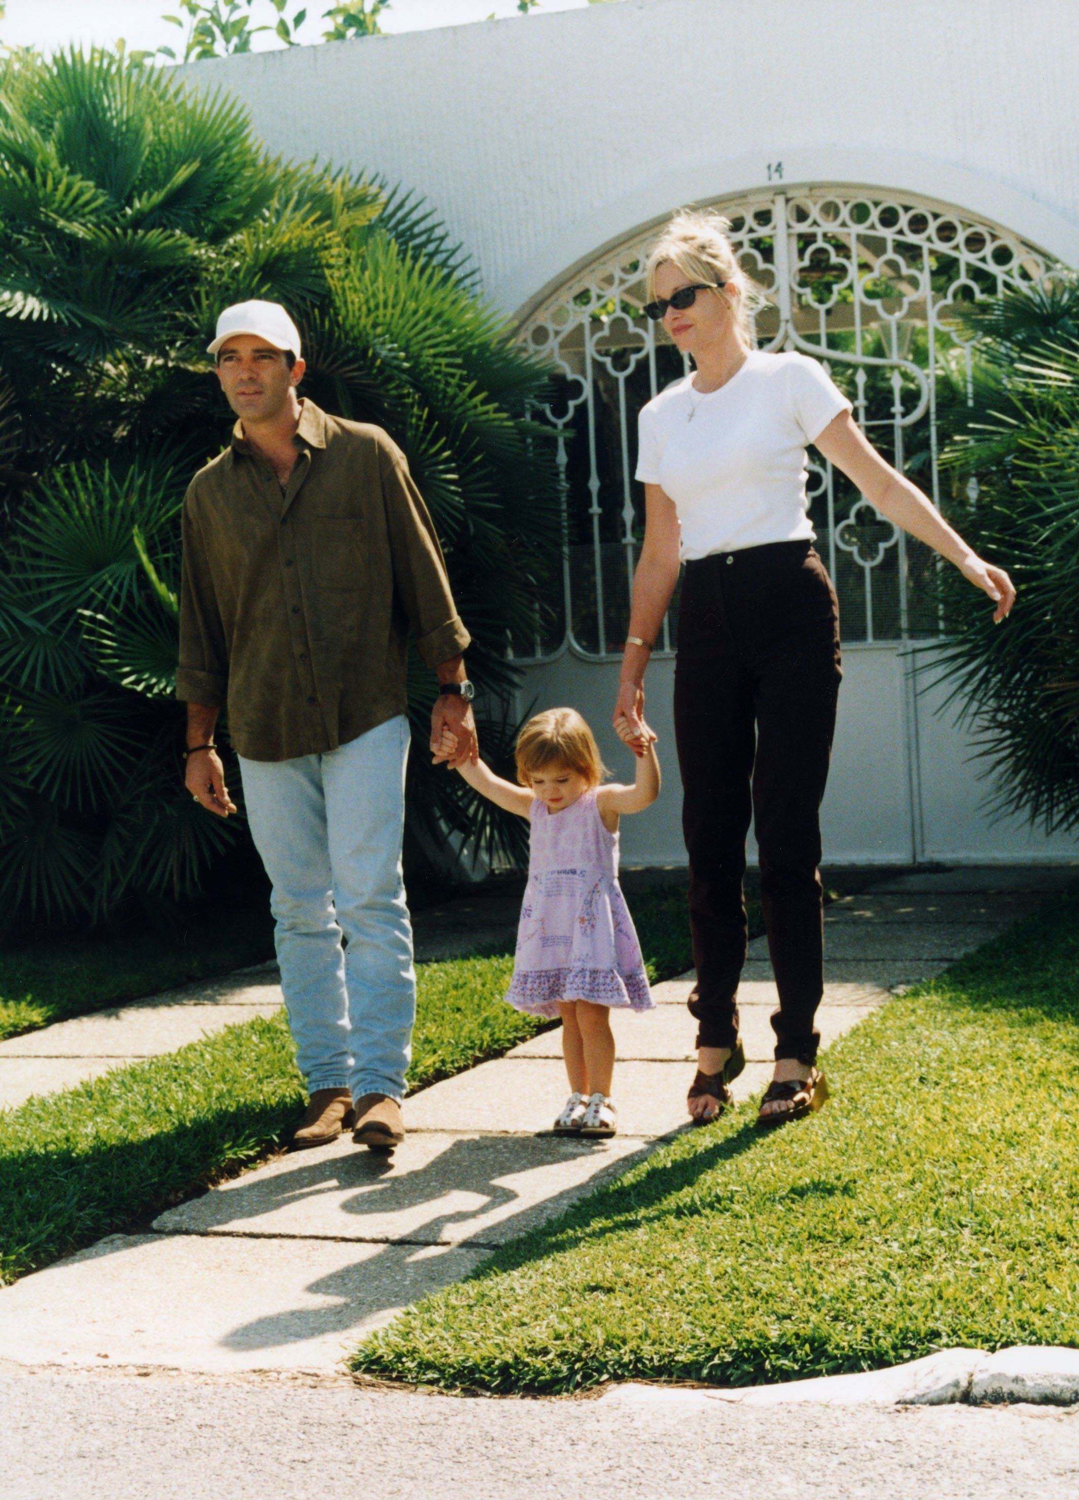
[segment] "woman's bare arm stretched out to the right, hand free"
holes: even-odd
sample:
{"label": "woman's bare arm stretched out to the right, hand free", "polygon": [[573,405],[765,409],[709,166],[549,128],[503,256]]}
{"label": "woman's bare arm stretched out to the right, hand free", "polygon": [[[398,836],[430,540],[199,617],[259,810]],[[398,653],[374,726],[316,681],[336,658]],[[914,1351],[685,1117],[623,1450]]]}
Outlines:
{"label": "woman's bare arm stretched out to the right, hand free", "polygon": [[1014,585],[1004,568],[981,561],[921,490],[866,441],[849,411],[830,422],[813,447],[842,470],[882,516],[954,562],[963,578],[984,590],[996,604],[993,620],[998,624],[1004,620],[1016,602]]}

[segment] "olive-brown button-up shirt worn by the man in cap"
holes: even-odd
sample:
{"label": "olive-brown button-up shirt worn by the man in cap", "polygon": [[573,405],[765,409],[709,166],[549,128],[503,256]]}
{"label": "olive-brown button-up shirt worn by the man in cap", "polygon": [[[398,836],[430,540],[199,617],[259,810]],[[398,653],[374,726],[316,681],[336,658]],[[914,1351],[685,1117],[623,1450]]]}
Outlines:
{"label": "olive-brown button-up shirt worn by the man in cap", "polygon": [[176,696],[227,705],[251,760],[336,750],[404,712],[410,627],[431,668],[470,639],[389,435],[305,400],[294,441],[282,494],[237,422],[183,501]]}

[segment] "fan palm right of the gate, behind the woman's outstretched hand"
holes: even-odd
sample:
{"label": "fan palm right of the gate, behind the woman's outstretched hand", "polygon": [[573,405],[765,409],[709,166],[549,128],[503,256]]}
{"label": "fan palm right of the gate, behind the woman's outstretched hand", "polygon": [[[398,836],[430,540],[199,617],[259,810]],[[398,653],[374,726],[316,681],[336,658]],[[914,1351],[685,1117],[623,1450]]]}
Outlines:
{"label": "fan palm right of the gate, behind the woman's outstretched hand", "polygon": [[[1007,567],[1016,608],[995,628],[953,570],[938,666],[963,704],[1001,813],[1079,828],[1079,284],[1059,278],[966,316],[978,345],[974,410],[945,454],[953,508]],[[971,478],[977,483],[971,484]]]}

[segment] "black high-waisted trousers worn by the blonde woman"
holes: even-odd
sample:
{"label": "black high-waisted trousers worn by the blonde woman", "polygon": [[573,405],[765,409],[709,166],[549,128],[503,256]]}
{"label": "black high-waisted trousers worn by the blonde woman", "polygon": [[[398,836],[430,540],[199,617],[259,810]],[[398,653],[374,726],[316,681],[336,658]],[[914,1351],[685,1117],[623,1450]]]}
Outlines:
{"label": "black high-waisted trousers worn by the blonde woman", "polygon": [[686,564],[674,726],[684,790],[698,1047],[732,1047],[746,962],[746,834],[779,988],[776,1058],[816,1058],[824,990],[821,798],[840,680],[839,609],[807,542]]}

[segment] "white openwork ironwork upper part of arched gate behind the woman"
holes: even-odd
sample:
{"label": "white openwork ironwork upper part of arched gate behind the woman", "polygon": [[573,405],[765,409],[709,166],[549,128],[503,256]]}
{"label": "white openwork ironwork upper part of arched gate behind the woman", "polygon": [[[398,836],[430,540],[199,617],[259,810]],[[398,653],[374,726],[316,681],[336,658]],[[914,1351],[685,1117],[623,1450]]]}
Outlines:
{"label": "white openwork ironwork upper part of arched gate behind the woman", "polygon": [[[801,350],[843,386],[861,429],[900,470],[941,500],[941,418],[969,400],[971,346],[960,303],[1031,288],[1056,267],[996,225],[912,194],[849,188],[762,189],[714,204],[768,306],[758,314],[764,350]],[[561,600],[549,604],[518,660],[567,646],[617,654],[644,530],[633,480],[636,412],[690,366],[642,314],[638,232],[572,276],[522,322],[521,339],[551,360],[557,392],[540,418],[557,432],[564,500]],[[968,500],[977,489],[968,489]],[[810,456],[812,519],[840,600],[848,642],[939,634],[933,567],[920,543],[884,520],[842,474]],[[674,616],[674,618],[672,618]],[[663,626],[671,651],[677,596]]]}

